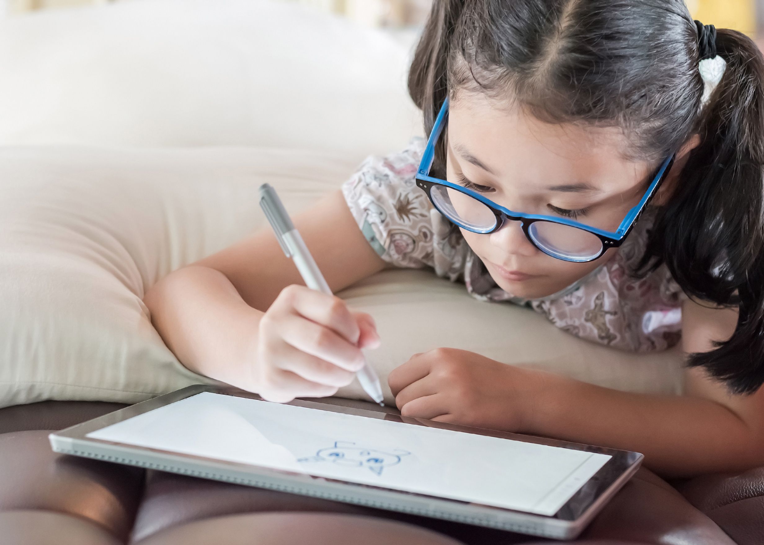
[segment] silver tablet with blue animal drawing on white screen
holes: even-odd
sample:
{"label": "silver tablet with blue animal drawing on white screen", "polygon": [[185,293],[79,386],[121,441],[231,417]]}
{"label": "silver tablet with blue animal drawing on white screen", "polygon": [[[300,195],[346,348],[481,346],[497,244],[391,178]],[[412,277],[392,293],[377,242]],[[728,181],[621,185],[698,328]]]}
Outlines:
{"label": "silver tablet with blue animal drawing on white screen", "polygon": [[194,385],[50,434],[58,453],[573,539],[639,453]]}

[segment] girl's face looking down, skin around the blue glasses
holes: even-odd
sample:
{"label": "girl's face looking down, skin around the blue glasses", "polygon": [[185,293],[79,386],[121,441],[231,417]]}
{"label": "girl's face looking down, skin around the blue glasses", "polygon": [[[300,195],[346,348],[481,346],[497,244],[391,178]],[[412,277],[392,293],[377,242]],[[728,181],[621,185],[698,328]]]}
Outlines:
{"label": "girl's face looking down, skin around the blue glasses", "polygon": [[[520,108],[461,93],[448,111],[447,179],[513,211],[572,218],[615,231],[658,165],[624,159],[617,128],[548,124]],[[461,230],[497,284],[512,295],[552,295],[613,257],[591,263],[547,256],[507,221],[493,234]]]}

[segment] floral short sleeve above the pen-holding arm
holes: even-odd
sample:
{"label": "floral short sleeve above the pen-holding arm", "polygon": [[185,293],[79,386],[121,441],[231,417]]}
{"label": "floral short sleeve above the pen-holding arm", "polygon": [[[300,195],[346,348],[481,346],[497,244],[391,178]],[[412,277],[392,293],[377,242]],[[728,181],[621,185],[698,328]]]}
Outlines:
{"label": "floral short sleeve above the pen-holding arm", "polygon": [[441,218],[414,179],[425,144],[414,138],[400,153],[370,156],[342,185],[348,208],[368,243],[397,267],[435,266],[433,221],[437,229]]}

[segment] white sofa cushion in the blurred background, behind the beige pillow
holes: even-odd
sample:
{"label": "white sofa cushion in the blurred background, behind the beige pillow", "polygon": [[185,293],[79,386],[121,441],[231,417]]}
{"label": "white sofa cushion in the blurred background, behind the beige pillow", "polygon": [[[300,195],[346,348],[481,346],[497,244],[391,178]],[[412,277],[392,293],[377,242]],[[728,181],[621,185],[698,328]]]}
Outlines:
{"label": "white sofa cushion in the blurred background, behind the beige pillow", "polygon": [[0,145],[367,153],[421,131],[409,48],[266,0],[123,0],[0,19]]}

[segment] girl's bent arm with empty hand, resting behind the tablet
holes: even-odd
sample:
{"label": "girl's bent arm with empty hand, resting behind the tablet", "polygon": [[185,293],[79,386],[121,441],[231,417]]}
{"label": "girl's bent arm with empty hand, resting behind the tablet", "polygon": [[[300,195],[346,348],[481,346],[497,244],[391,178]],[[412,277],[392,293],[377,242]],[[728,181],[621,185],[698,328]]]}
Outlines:
{"label": "girl's bent arm with empty hand, resting behind the tablet", "polygon": [[[683,349],[698,353],[730,337],[737,313],[686,302],[683,320]],[[462,350],[433,352],[390,375],[406,416],[635,450],[666,477],[764,464],[764,388],[731,395],[703,369],[688,368],[684,395],[636,394]]]}

